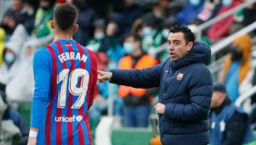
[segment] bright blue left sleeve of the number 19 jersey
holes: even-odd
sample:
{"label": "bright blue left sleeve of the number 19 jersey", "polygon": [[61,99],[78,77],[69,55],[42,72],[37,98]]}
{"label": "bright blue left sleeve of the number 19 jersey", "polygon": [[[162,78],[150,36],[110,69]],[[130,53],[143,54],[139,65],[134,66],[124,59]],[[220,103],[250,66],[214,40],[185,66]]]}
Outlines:
{"label": "bright blue left sleeve of the number 19 jersey", "polygon": [[50,101],[52,58],[45,48],[40,48],[33,56],[33,74],[35,89],[32,103],[31,128],[40,128],[45,120],[48,102]]}

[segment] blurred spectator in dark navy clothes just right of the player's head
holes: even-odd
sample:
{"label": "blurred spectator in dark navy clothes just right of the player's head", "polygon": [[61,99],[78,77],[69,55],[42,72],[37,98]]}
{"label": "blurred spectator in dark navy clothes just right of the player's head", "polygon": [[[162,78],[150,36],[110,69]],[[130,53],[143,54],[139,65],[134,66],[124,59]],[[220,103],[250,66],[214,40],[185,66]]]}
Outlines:
{"label": "blurred spectator in dark navy clothes just right of the player's head", "polygon": [[88,6],[87,0],[75,0],[74,5],[78,8],[78,31],[74,34],[74,39],[78,43],[85,45],[89,40],[90,30],[93,29],[93,22],[98,18],[93,8]]}

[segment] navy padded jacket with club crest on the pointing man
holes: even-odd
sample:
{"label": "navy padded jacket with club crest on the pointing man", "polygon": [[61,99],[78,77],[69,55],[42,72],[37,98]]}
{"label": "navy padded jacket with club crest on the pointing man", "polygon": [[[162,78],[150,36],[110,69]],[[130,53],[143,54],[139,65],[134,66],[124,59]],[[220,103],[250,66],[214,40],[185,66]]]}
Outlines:
{"label": "navy padded jacket with club crest on the pointing man", "polygon": [[165,104],[159,114],[163,145],[203,145],[209,142],[208,111],[213,79],[206,64],[208,46],[195,42],[188,55],[177,61],[169,58],[143,70],[111,70],[111,83],[134,88],[160,87],[158,102]]}

